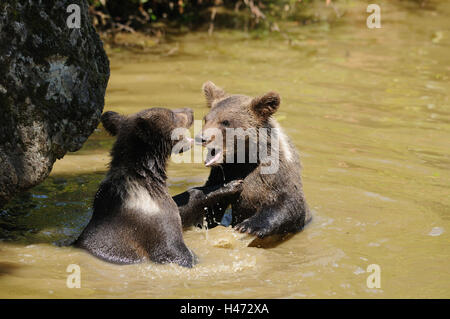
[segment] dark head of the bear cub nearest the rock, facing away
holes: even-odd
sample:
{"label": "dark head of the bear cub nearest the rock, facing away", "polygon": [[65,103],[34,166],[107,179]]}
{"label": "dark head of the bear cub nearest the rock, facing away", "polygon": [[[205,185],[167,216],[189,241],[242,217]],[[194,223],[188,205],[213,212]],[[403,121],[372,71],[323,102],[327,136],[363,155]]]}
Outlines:
{"label": "dark head of the bear cub nearest the rock, facing away", "polygon": [[193,111],[189,108],[151,108],[129,116],[108,111],[101,117],[103,127],[117,136],[113,160],[121,154],[130,159],[133,154],[165,159],[177,143],[178,146],[182,144],[177,147],[179,152],[189,150],[192,139],[183,134],[183,130],[187,130],[193,121]]}

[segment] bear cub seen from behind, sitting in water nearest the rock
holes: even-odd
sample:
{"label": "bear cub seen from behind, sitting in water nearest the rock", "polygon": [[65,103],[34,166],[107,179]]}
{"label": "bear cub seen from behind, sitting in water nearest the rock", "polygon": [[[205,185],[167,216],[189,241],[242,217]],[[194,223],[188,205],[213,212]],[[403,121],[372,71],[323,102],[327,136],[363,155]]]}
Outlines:
{"label": "bear cub seen from behind, sitting in water nearest the rock", "polygon": [[[172,139],[172,131],[192,125],[192,110],[152,108],[131,116],[105,112],[101,121],[117,140],[92,219],[75,245],[117,264],[154,261],[192,267],[196,258],[183,241],[179,210],[166,185],[172,148],[182,144],[181,150],[187,150],[192,144],[184,136]],[[195,206],[195,200],[207,202],[207,196],[235,194],[239,183],[233,185],[237,187],[215,187],[210,194],[191,189],[186,196],[195,197],[190,201]]]}

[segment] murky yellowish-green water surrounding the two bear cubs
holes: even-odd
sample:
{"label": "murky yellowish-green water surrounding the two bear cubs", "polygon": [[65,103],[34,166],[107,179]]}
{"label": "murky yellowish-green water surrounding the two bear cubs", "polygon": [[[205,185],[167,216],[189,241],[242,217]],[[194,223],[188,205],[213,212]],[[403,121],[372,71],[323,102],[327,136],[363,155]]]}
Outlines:
{"label": "murky yellowish-green water surrounding the two bear cubs", "polygon": [[[433,4],[433,2],[432,2]],[[200,264],[106,264],[72,247],[91,214],[113,139],[100,127],[50,178],[0,213],[1,297],[450,297],[450,3],[381,2],[382,29],[364,5],[346,22],[292,24],[289,39],[191,34],[174,54],[110,52],[106,110],[207,111],[213,80],[233,93],[276,90],[277,118],[302,154],[315,219],[271,248],[232,230],[189,230]],[[171,164],[172,194],[200,185],[202,164]],[[81,267],[81,289],[66,267]],[[366,285],[381,268],[381,288]]]}

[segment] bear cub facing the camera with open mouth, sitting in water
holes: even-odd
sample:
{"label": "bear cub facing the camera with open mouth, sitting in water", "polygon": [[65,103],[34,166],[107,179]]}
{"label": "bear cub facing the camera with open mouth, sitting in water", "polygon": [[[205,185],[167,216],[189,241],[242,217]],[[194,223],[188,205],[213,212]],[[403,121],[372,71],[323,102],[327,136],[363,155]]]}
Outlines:
{"label": "bear cub facing the camera with open mouth, sitting in water", "polygon": [[[274,92],[257,98],[227,94],[212,82],[205,83],[203,91],[211,110],[204,118],[202,133],[195,139],[208,149],[205,164],[211,167],[211,172],[205,186],[243,180],[242,192],[207,206],[205,211],[209,227],[220,223],[225,210],[231,205],[231,225],[240,232],[263,238],[301,231],[310,221],[311,213],[303,194],[297,151],[272,117],[280,106],[280,96]],[[253,132],[244,134],[248,129],[253,129]],[[265,129],[267,134],[262,136],[260,129]],[[232,150],[226,142],[230,132],[234,132]],[[240,161],[240,154],[236,152],[239,149],[236,147],[238,140],[244,141],[246,150]],[[267,161],[250,148],[252,143],[255,145],[259,141],[264,141],[268,148],[272,145],[271,152],[278,154],[277,169],[273,172],[264,171]],[[258,153],[256,157],[252,152]],[[254,160],[251,160],[252,156]],[[181,218],[183,221],[193,220],[192,216]]]}

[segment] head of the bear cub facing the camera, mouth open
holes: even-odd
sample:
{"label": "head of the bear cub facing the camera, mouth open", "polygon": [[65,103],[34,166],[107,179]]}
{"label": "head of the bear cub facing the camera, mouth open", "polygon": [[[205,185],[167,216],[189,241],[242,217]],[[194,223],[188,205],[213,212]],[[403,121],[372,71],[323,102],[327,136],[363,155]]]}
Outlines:
{"label": "head of the bear cub facing the camera, mouth open", "polygon": [[[202,132],[195,137],[208,149],[205,165],[213,166],[223,162],[247,162],[249,143],[257,143],[261,128],[271,127],[272,115],[280,106],[280,95],[268,92],[259,97],[227,94],[212,82],[203,84],[206,103],[211,108],[204,118]],[[228,138],[227,138],[228,136]],[[243,156],[239,158],[238,141],[246,143]],[[233,143],[233,151],[231,144]],[[243,145],[243,144],[241,144]],[[255,151],[256,152],[256,151]]]}

